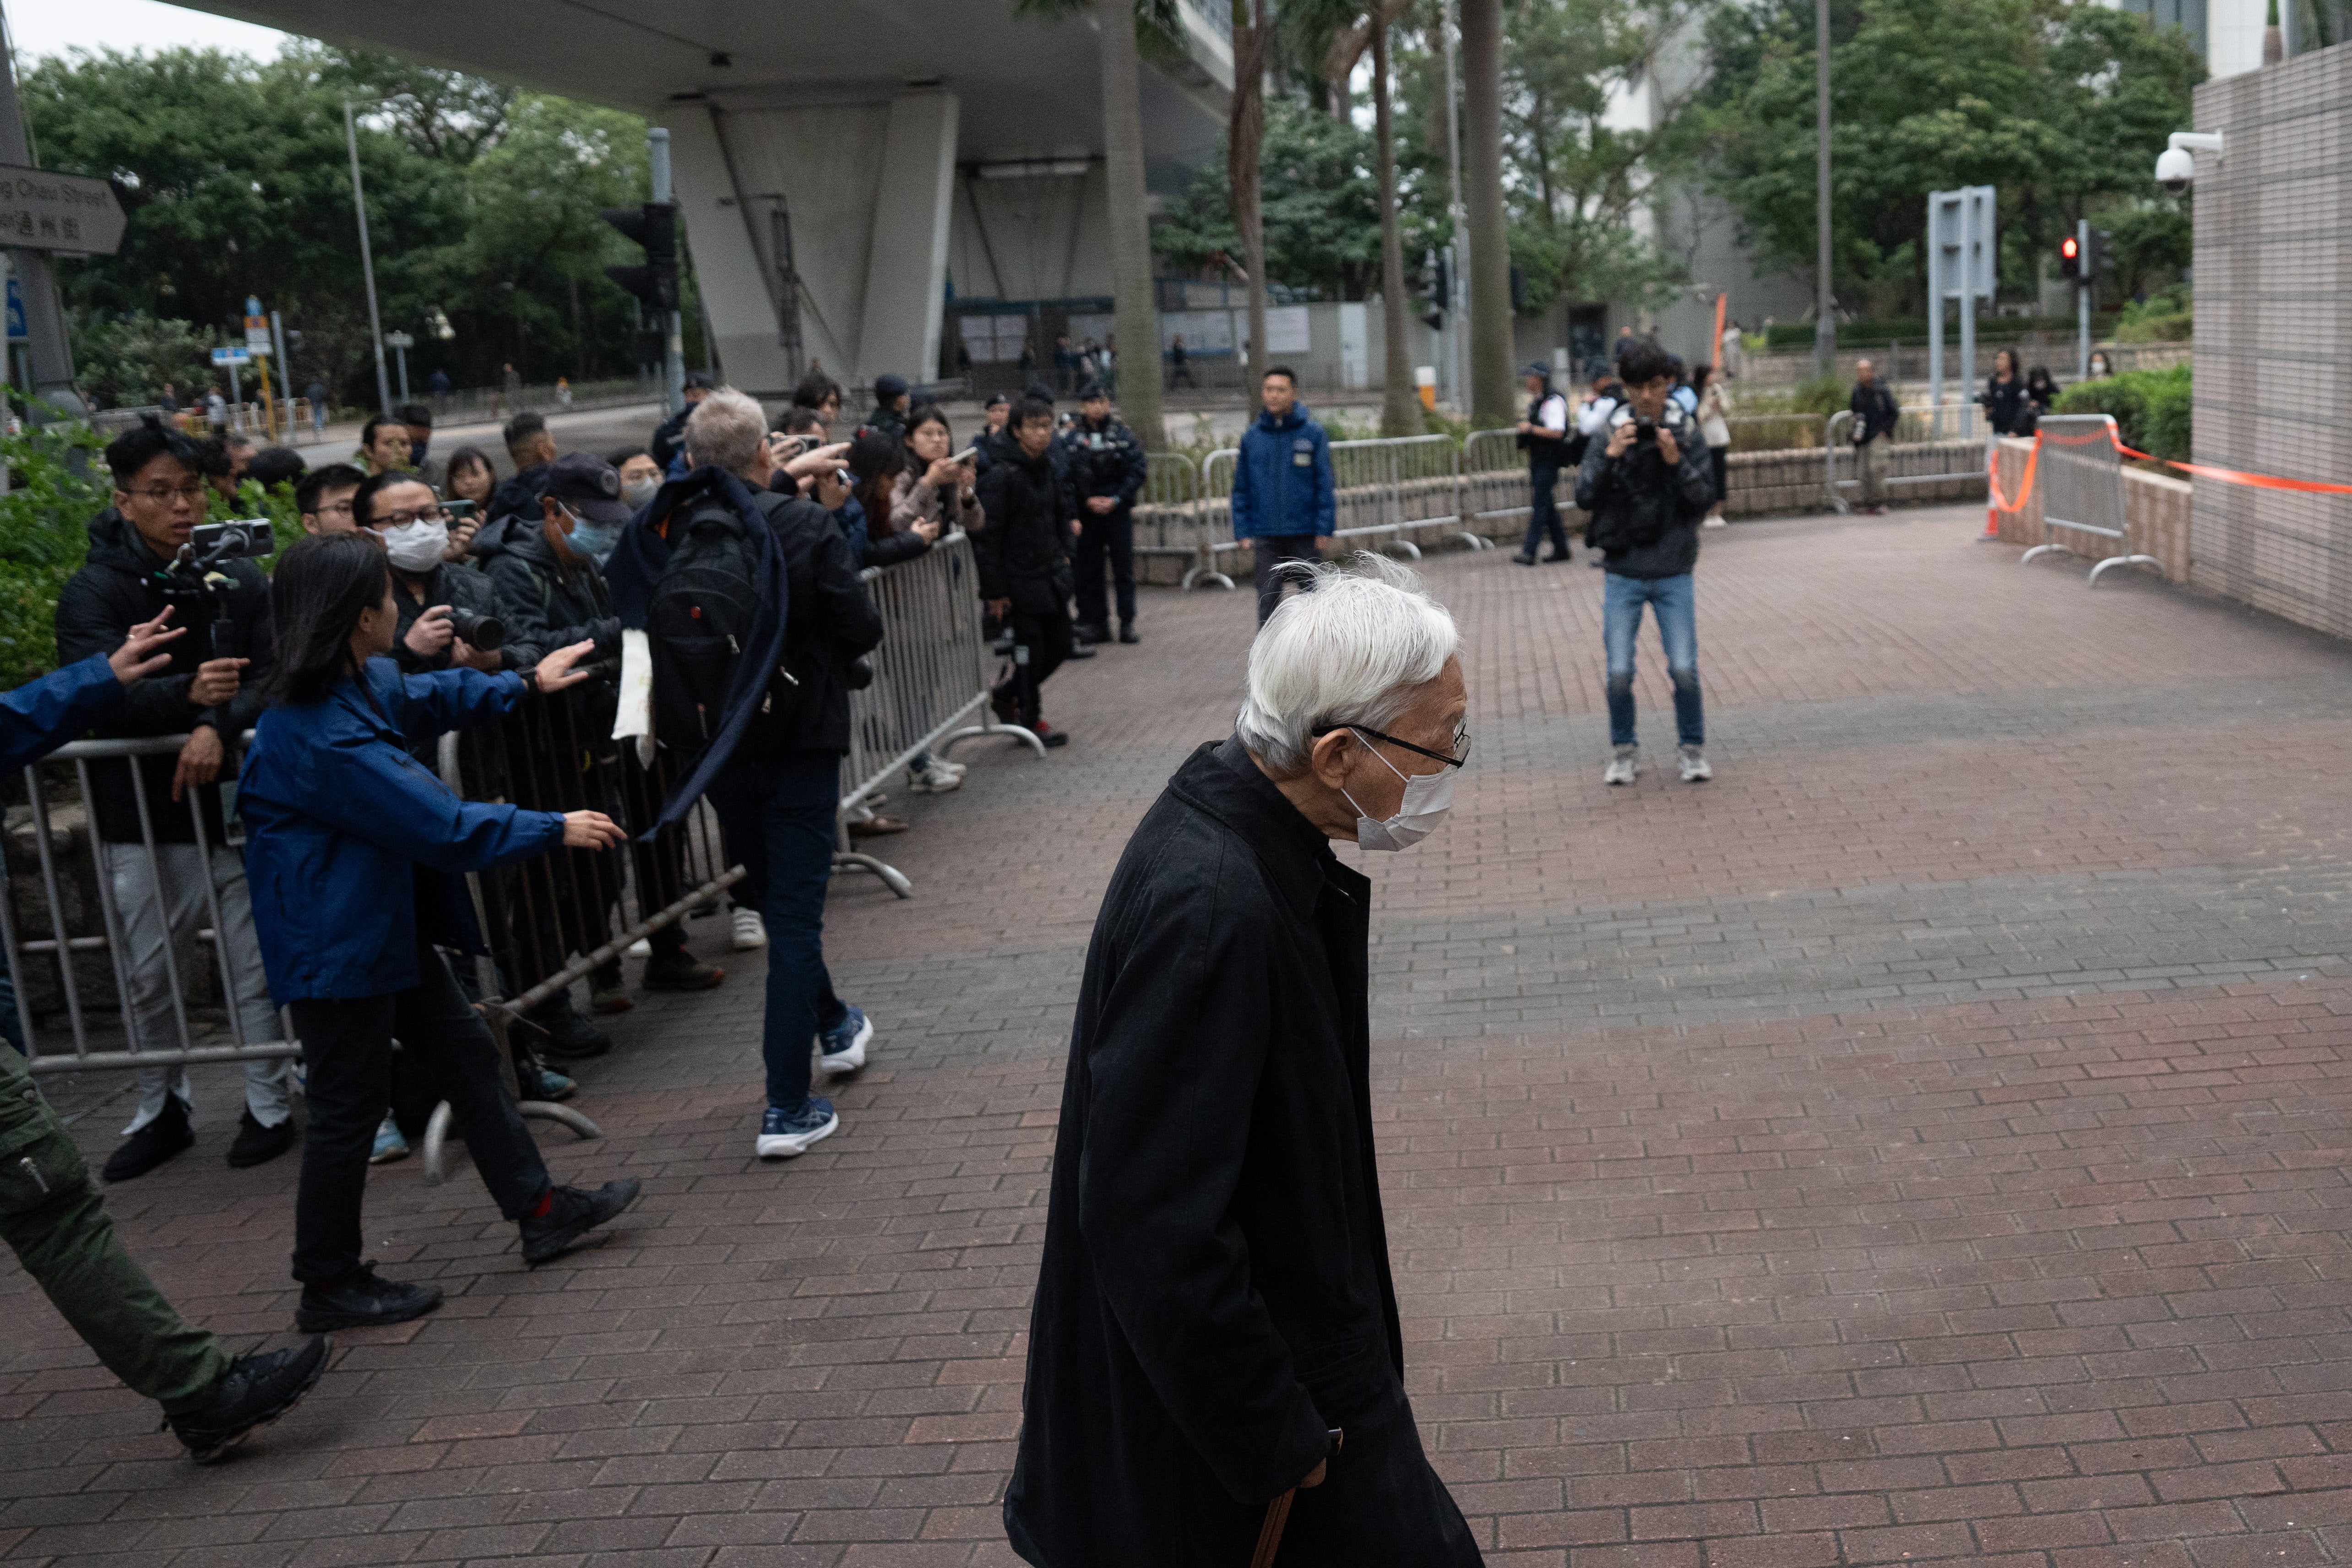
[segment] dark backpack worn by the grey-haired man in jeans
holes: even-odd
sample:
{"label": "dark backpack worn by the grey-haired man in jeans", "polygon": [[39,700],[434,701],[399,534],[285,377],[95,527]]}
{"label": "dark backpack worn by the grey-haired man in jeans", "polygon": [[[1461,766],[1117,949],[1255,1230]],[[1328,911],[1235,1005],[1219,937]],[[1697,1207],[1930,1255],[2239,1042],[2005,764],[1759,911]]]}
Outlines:
{"label": "dark backpack worn by the grey-haired man in jeans", "polygon": [[[781,614],[783,607],[776,609]],[[654,736],[663,745],[696,757],[720,733],[727,689],[750,646],[757,614],[753,541],[743,534],[743,520],[724,501],[706,501],[687,515],[684,538],[670,545],[644,611],[654,654]],[[779,665],[739,741],[741,755],[774,750],[783,733],[779,689],[790,686],[793,677]]]}

